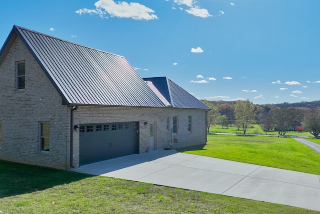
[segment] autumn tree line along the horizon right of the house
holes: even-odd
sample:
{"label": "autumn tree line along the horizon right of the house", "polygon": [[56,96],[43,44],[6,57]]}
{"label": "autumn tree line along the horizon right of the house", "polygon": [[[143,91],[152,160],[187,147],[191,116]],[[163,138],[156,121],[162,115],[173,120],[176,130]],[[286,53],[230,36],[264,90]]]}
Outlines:
{"label": "autumn tree line along the horizon right of the house", "polygon": [[[297,131],[308,131],[318,137],[320,133],[320,101],[258,105],[245,101],[207,101],[201,100],[211,108],[207,112],[206,129],[218,124],[221,127],[236,126],[246,133],[252,124],[259,124],[263,131],[275,130],[285,135],[290,126]],[[301,124],[301,125],[299,125]]]}

